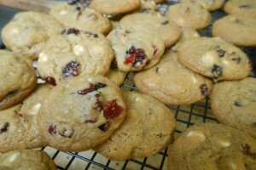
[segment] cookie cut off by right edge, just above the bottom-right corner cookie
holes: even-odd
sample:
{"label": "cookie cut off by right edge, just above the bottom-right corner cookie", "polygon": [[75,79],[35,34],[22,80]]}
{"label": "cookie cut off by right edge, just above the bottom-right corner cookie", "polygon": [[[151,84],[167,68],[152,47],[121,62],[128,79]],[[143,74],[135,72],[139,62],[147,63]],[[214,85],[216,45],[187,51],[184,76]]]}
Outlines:
{"label": "cookie cut off by right edge, just above the bottom-right corner cookie", "polygon": [[211,104],[218,122],[243,130],[256,139],[256,78],[216,83]]}

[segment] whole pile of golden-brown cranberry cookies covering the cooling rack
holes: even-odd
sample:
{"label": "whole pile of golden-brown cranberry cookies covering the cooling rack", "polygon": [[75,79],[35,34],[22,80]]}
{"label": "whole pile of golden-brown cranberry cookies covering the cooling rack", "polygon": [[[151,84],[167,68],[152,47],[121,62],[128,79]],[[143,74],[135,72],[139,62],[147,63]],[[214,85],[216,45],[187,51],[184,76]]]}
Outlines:
{"label": "whole pile of golden-brown cranberry cookies covering the cooling rack", "polygon": [[[44,146],[119,161],[153,156],[174,139],[166,105],[209,95],[224,125],[189,127],[171,145],[168,169],[256,168],[256,79],[236,47],[256,46],[256,3],[230,0],[214,37],[201,37],[224,0],[183,0],[166,16],[162,2],[76,0],[15,15],[2,31],[9,51],[0,51],[0,168],[55,169],[44,152],[25,150]],[[129,72],[140,93],[119,88]]]}

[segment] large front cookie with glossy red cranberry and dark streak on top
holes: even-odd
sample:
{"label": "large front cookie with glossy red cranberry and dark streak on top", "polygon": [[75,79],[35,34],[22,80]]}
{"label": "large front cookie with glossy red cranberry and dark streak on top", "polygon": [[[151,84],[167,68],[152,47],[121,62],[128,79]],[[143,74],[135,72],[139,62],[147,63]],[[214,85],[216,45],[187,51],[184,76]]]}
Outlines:
{"label": "large front cookie with glossy red cranberry and dark streak on top", "polygon": [[61,82],[44,100],[39,127],[49,146],[84,151],[102,144],[125,118],[125,103],[114,82],[81,75]]}

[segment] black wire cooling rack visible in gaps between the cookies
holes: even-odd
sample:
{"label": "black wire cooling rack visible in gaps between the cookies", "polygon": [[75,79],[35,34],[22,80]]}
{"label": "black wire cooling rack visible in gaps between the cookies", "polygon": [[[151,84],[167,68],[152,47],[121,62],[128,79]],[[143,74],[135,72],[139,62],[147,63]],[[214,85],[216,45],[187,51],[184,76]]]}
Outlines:
{"label": "black wire cooling rack visible in gaps between the cookies", "polygon": [[[88,1],[89,4],[90,1]],[[168,0],[166,3],[160,4],[160,13],[165,14],[167,8],[174,4],[178,3],[178,0]],[[224,11],[214,11],[212,12],[212,23],[215,20],[224,16]],[[207,27],[205,30],[199,31],[202,36],[211,36],[212,24]],[[0,43],[1,44],[1,43]],[[3,43],[0,45],[0,48],[4,48]],[[243,48],[244,51],[251,57],[256,58],[255,48]],[[255,68],[255,67],[254,67]],[[132,80],[133,73],[130,72],[125,78],[125,82],[120,86],[131,91],[137,91],[137,88],[134,85]],[[210,99],[203,99],[198,103],[193,105],[167,105],[170,110],[175,114],[177,120],[177,129],[175,133],[175,139],[179,133],[183,132],[184,129],[193,124],[198,124],[201,122],[217,122],[217,120],[212,116],[212,111],[210,107]],[[50,147],[44,147],[41,150],[44,150],[52,157],[57,165],[58,169],[61,170],[80,170],[80,169],[91,169],[91,170],[100,170],[100,169],[127,169],[127,170],[137,170],[137,169],[166,169],[166,158],[167,150],[162,150],[160,153],[155,154],[154,156],[146,157],[143,159],[131,159],[127,161],[110,161],[106,157],[98,154],[94,150],[88,150],[84,152],[74,153],[74,152],[62,152],[60,150],[55,150]]]}

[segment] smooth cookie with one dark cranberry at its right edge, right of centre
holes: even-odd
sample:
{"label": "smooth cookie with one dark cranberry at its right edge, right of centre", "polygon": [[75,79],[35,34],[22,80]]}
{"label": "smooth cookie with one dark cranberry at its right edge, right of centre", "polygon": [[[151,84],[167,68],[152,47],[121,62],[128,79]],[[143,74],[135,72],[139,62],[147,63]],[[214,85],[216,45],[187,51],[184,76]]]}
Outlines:
{"label": "smooth cookie with one dark cranberry at its right edge, right of centre", "polygon": [[190,71],[177,61],[177,54],[168,51],[160,62],[133,77],[136,87],[167,105],[189,105],[207,97],[212,82]]}

